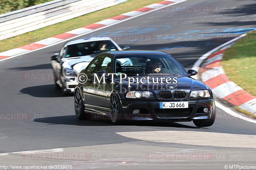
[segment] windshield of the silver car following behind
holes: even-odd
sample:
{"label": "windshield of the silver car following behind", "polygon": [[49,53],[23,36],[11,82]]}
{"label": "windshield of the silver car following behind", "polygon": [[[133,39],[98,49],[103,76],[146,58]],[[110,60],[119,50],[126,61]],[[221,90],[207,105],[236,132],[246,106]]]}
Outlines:
{"label": "windshield of the silver car following behind", "polygon": [[107,51],[116,51],[117,47],[110,41],[91,41],[67,46],[64,58],[83,55],[100,54]]}

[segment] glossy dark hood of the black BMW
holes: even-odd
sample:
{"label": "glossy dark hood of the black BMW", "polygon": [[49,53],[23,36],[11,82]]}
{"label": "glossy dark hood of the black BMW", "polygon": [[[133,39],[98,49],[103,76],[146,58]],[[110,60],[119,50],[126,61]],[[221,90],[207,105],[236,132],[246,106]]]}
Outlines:
{"label": "glossy dark hood of the black BMW", "polygon": [[[123,87],[129,88],[129,91],[136,91],[136,90],[148,90],[148,91],[152,91],[152,92],[157,92],[159,90],[186,90],[187,92],[190,92],[191,90],[204,90],[206,89],[206,86],[204,85],[204,83],[202,83],[199,80],[193,79],[191,77],[187,77],[187,76],[157,76],[158,77],[158,82],[159,83],[153,83],[153,76],[149,75],[150,79],[148,82],[146,82],[145,84],[140,82],[140,78],[147,78],[148,76],[129,76],[129,77],[133,77],[135,79],[134,83],[130,83],[130,88],[129,86],[129,79],[123,79],[122,83],[123,83]],[[139,82],[137,83],[136,78],[138,77]],[[154,77],[154,82],[156,82],[156,76]],[[161,83],[161,77],[165,78],[163,79],[163,83]],[[172,80],[170,80],[169,82],[171,83],[167,83],[165,80],[166,78],[172,78]],[[174,79],[177,79],[177,83],[173,83],[176,81],[173,81]],[[120,82],[120,78],[115,78],[115,80],[117,82]],[[132,80],[131,80],[132,81]],[[147,81],[147,79],[143,79],[143,82]],[[170,86],[172,86],[173,88],[170,88]]]}

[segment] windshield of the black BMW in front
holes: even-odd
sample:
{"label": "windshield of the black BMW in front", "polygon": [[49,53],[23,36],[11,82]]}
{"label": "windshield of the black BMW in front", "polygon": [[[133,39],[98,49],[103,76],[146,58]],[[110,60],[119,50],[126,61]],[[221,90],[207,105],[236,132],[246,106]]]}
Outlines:
{"label": "windshield of the black BMW in front", "polygon": [[122,55],[115,59],[115,73],[186,75],[184,67],[169,55]]}

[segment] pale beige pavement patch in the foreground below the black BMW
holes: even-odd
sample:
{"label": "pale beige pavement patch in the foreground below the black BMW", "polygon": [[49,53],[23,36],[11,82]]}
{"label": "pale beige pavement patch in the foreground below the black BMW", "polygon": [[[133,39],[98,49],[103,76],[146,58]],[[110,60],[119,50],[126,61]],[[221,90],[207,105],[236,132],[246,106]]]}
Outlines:
{"label": "pale beige pavement patch in the foreground below the black BMW", "polygon": [[256,135],[175,130],[116,133],[124,137],[153,142],[217,147],[256,148]]}

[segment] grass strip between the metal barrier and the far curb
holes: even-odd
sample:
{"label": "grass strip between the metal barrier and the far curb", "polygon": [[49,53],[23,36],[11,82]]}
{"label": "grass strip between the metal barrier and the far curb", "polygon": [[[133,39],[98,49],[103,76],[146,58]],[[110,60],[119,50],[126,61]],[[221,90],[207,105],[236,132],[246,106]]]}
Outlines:
{"label": "grass strip between the metal barrier and the far curb", "polygon": [[101,20],[108,19],[116,15],[123,14],[125,12],[133,11],[138,8],[160,1],[161,0],[129,0],[121,4],[102,9],[100,11],[95,11],[83,15],[81,17],[73,18],[54,24],[52,26],[46,26],[30,33],[25,33],[16,37],[2,40],[0,41],[0,52],[7,51],[13,48],[18,48],[20,46],[43,40],[45,38],[49,38],[60,33],[65,33],[76,28],[99,22]]}

